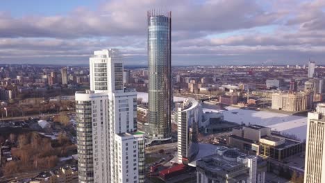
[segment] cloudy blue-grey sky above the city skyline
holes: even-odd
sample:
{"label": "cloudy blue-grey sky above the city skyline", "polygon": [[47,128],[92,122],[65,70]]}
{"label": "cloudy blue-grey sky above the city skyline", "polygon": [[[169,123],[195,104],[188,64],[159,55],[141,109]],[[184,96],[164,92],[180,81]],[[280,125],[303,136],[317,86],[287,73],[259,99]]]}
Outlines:
{"label": "cloudy blue-grey sky above the city skyline", "polygon": [[119,49],[147,65],[147,10],[172,11],[172,64],[325,64],[325,0],[10,0],[0,64],[88,64]]}

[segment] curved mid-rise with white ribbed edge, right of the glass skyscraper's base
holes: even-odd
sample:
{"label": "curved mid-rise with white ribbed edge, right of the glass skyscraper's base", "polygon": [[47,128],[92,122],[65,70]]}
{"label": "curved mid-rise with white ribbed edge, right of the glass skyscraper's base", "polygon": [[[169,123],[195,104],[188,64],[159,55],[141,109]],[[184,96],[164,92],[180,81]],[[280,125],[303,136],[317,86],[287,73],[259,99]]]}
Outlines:
{"label": "curved mid-rise with white ribbed edge, right of the glass skyscraper's base", "polygon": [[188,164],[199,153],[197,136],[202,118],[201,105],[194,98],[188,98],[177,108],[176,115],[178,163]]}

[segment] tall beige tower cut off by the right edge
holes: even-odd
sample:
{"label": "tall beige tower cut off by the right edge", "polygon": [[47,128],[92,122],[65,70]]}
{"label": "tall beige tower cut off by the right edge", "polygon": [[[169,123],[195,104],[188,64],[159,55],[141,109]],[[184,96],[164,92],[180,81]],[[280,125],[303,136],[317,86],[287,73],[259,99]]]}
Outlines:
{"label": "tall beige tower cut off by the right edge", "polygon": [[325,182],[325,104],[308,113],[305,183]]}

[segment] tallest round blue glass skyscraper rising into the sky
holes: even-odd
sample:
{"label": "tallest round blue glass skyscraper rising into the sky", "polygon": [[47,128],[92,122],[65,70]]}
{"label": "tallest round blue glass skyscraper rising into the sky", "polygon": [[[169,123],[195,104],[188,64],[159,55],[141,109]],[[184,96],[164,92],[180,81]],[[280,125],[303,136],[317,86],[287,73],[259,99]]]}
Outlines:
{"label": "tallest round blue glass skyscraper rising into the sky", "polygon": [[149,136],[171,137],[172,12],[148,12]]}

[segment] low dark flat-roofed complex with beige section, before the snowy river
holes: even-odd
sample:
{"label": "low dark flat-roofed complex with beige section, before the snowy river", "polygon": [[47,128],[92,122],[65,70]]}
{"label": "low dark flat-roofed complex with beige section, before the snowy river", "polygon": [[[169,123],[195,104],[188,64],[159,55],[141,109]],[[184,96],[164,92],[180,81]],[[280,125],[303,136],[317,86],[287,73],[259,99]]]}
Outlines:
{"label": "low dark flat-roofed complex with beige section, before the snowy river", "polygon": [[300,141],[272,133],[270,128],[261,125],[233,128],[232,135],[227,137],[227,144],[249,155],[260,155],[277,161],[283,161],[303,150]]}

